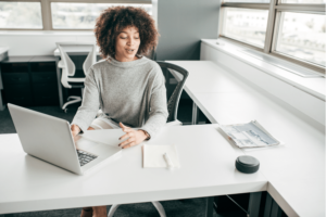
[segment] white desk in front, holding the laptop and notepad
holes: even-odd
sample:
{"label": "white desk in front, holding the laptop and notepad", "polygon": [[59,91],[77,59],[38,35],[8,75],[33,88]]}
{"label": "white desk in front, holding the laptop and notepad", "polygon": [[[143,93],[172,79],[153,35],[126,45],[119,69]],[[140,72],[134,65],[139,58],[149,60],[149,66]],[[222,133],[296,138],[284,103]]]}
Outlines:
{"label": "white desk in front, holding the laptop and notepad", "polygon": [[0,214],[266,191],[261,173],[236,170],[235,159],[242,152],[216,128],[170,127],[149,142],[176,144],[179,169],[142,168],[137,145],[85,176],[26,155],[17,135],[0,135]]}

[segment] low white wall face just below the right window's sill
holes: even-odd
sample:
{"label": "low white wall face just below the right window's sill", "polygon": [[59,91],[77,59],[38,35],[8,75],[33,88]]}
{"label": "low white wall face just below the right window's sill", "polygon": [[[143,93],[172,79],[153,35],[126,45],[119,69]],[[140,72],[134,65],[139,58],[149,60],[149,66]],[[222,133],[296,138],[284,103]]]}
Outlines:
{"label": "low white wall face just below the right window's sill", "polygon": [[244,81],[266,91],[284,103],[305,114],[314,122],[326,126],[326,102],[309,94],[276,77],[266,74],[240,60],[220,51],[205,43],[201,43],[200,60],[213,61],[228,68]]}

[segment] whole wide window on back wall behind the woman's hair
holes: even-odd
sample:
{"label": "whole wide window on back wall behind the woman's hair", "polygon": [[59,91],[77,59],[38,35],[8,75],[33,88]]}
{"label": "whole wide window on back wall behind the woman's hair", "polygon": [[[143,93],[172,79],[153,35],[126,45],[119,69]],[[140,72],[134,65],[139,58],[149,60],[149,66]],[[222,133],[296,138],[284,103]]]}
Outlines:
{"label": "whole wide window on back wall behind the woman's hair", "polygon": [[91,30],[112,5],[140,7],[152,15],[151,0],[5,0],[0,1],[0,30]]}

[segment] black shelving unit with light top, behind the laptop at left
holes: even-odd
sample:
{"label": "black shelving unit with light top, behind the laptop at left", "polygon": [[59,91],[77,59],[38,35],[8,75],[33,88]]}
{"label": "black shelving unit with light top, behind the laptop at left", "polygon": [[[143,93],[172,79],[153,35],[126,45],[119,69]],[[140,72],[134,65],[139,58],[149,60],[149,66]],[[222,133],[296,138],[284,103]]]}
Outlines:
{"label": "black shelving unit with light top, behind the laptop at left", "polygon": [[54,56],[11,56],[0,66],[4,103],[59,105]]}

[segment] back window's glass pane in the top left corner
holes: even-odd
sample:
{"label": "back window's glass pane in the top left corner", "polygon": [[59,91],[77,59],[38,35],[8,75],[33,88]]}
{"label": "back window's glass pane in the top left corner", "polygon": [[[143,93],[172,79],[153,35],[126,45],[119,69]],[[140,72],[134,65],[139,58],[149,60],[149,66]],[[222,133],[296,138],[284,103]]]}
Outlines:
{"label": "back window's glass pane in the top left corner", "polygon": [[0,28],[43,28],[40,2],[1,1]]}

